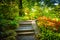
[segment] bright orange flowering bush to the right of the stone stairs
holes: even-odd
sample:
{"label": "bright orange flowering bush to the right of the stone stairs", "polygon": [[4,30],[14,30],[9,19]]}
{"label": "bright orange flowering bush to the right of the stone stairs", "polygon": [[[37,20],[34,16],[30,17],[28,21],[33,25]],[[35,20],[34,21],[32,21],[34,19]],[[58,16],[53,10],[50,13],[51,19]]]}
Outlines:
{"label": "bright orange flowering bush to the right of the stone stairs", "polygon": [[56,18],[48,18],[45,16],[39,17],[38,19],[38,26],[44,25],[45,27],[49,27],[52,30],[59,31],[60,28],[60,21]]}

